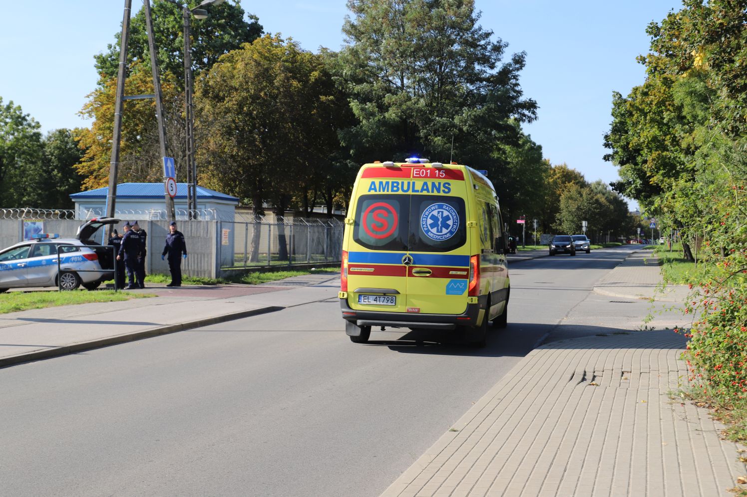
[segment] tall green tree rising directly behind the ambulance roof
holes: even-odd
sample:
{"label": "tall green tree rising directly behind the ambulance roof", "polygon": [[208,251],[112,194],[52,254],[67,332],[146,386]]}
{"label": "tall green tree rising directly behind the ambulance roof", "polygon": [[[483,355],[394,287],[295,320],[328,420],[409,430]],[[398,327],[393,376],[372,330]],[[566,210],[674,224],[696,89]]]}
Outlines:
{"label": "tall green tree rising directly behind the ambulance roof", "polygon": [[500,177],[496,143],[519,145],[512,119],[530,122],[507,44],[479,24],[472,0],[349,0],[338,81],[359,124],[342,138],[356,160],[452,156]]}

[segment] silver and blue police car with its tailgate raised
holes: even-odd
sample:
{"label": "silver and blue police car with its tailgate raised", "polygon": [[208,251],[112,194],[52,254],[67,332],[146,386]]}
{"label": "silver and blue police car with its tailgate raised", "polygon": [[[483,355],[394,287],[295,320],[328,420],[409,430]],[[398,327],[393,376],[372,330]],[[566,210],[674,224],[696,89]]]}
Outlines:
{"label": "silver and blue police car with its tailgate raised", "polygon": [[117,224],[120,219],[94,218],[78,228],[75,238],[59,238],[57,234],[36,234],[34,240],[16,243],[0,251],[0,293],[9,288],[57,287],[58,249],[60,254],[59,284],[63,290],[75,290],[81,285],[95,290],[102,281],[111,280],[114,268],[111,248],[93,240],[102,226]]}

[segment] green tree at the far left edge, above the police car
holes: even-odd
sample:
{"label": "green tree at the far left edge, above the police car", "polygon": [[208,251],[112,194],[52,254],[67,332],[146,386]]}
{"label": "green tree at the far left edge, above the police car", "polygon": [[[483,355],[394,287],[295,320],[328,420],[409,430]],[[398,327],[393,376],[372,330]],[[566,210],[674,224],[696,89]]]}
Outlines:
{"label": "green tree at the far left edge, above the police car", "polygon": [[23,113],[13,101],[3,104],[0,97],[0,201],[3,207],[40,207],[28,205],[29,170],[42,157],[40,124]]}

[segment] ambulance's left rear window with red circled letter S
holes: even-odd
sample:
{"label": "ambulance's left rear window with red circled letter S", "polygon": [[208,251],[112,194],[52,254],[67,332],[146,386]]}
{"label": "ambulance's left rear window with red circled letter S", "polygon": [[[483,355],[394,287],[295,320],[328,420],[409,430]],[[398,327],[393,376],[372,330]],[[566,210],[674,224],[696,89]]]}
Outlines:
{"label": "ambulance's left rear window with red circled letter S", "polygon": [[373,250],[407,250],[409,195],[362,195],[353,240]]}

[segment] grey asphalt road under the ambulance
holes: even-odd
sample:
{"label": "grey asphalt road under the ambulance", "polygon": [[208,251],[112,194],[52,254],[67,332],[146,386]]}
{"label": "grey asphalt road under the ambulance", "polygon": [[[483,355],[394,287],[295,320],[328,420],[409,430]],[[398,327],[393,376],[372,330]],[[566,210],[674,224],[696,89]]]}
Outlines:
{"label": "grey asphalt road under the ambulance", "polygon": [[628,251],[515,263],[481,350],[350,343],[334,298],[0,369],[0,493],[377,496],[538,343],[640,325],[589,293]]}

